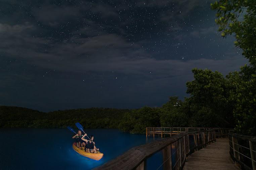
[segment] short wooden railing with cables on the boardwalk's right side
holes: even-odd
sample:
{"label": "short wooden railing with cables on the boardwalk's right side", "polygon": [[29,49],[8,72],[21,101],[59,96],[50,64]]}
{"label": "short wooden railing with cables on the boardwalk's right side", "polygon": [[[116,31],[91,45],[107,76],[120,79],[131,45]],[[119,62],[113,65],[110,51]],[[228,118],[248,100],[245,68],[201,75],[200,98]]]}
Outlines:
{"label": "short wooden railing with cables on the boardwalk's right side", "polygon": [[256,137],[228,134],[229,153],[241,169],[256,170]]}

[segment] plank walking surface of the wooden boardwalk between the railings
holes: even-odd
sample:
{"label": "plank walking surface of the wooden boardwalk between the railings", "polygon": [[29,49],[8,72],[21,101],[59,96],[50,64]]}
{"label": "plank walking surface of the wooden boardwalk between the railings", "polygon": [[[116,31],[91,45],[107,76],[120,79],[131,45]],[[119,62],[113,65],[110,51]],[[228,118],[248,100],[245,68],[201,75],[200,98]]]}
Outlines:
{"label": "plank walking surface of the wooden boardwalk between the railings", "polygon": [[218,138],[211,144],[189,155],[183,170],[234,170],[239,169],[229,155],[227,138]]}

